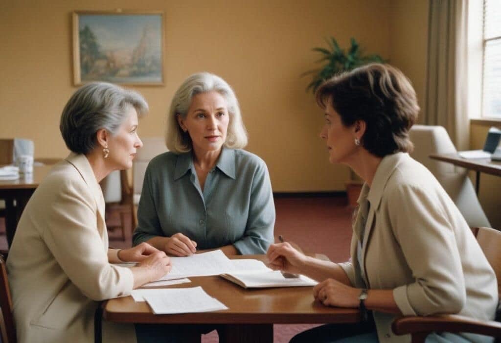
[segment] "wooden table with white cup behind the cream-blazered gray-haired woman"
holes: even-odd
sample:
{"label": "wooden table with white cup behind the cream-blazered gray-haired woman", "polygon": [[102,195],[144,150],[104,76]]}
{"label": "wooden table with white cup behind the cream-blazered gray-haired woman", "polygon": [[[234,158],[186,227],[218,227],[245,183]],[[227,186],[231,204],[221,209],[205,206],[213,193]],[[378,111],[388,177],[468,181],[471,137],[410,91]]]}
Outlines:
{"label": "wooden table with white cup behind the cream-blazered gray-haired woman", "polygon": [[9,247],[28,200],[52,167],[53,165],[35,166],[33,174],[20,174],[17,180],[0,180],[0,199],[5,200],[5,230]]}

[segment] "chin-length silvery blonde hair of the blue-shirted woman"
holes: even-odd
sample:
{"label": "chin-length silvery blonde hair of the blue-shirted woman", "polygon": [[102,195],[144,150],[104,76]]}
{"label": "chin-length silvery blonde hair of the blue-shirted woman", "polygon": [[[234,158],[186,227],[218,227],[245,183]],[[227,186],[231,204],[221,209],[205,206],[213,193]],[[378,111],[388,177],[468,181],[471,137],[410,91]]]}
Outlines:
{"label": "chin-length silvery blonde hair of the blue-shirted woman", "polygon": [[181,130],[176,116],[186,118],[193,97],[211,91],[219,93],[228,105],[229,124],[224,146],[241,149],[247,145],[247,130],[243,125],[235,93],[220,77],[203,72],[188,77],[172,98],[165,131],[165,144],[170,151],[180,154],[191,150],[191,138],[187,132]]}

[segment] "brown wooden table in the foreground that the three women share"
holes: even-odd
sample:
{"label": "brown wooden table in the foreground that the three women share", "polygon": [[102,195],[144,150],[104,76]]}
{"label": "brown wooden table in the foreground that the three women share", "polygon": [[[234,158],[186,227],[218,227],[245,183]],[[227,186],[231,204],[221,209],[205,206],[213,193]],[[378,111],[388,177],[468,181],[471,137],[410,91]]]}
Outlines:
{"label": "brown wooden table in the foreground that the three women share", "polygon": [[[257,258],[265,255],[232,256]],[[216,312],[153,314],[146,302],[131,296],[108,300],[106,320],[127,323],[231,324],[225,325],[225,342],[273,342],[273,324],[342,323],[360,321],[358,309],[326,307],[314,301],[313,287],[245,289],[219,276],[190,277],[191,283],[159,288],[202,286],[228,309]]]}

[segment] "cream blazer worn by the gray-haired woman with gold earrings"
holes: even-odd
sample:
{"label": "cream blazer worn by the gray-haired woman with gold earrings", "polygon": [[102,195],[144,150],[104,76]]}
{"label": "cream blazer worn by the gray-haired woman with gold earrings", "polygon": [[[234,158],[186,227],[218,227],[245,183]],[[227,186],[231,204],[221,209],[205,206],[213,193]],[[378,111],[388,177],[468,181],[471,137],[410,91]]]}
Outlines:
{"label": "cream blazer worn by the gray-haired woman with gold earrings", "polygon": [[[104,199],[89,161],[70,154],[37,188],[18,224],[7,269],[22,342],[92,342],[100,300],[129,295],[128,268],[108,263]],[[135,341],[134,326],[103,321],[103,341]]]}

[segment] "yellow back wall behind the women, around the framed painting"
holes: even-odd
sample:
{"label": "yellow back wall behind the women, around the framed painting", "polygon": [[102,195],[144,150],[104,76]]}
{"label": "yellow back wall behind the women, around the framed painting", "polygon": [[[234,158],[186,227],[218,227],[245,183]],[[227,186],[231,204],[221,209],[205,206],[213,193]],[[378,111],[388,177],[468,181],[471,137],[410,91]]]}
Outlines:
{"label": "yellow back wall behind the women, around the framed painting", "polygon": [[0,3],[0,137],[35,141],[36,157],[64,157],[59,116],[72,84],[71,13],[161,10],[166,16],[165,86],[136,87],[150,104],[143,137],[163,135],[179,84],[210,71],[236,91],[250,134],[248,150],[270,169],[275,191],[344,190],[348,170],[331,166],[318,138],[322,112],[305,92],[312,47],[355,37],[367,52],[390,56],[389,0],[160,1],[18,0]]}

